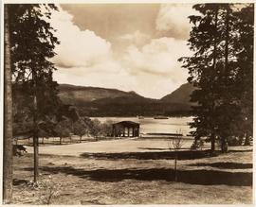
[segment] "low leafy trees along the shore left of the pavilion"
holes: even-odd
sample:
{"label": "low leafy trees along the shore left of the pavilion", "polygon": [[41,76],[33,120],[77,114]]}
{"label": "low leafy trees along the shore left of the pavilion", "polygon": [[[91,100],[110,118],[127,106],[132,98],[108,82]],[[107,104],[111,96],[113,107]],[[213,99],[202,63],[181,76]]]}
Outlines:
{"label": "low leafy trees along the shore left of the pavilion", "polygon": [[[14,105],[17,104],[14,103]],[[33,136],[33,117],[23,110],[20,109],[14,113],[13,137],[29,138]],[[111,133],[111,121],[101,123],[98,119],[80,116],[75,107],[64,104],[59,106],[57,114],[38,123],[38,137],[43,139],[59,137],[60,144],[62,144],[63,138],[71,137],[72,134],[80,136],[80,142],[82,142],[83,135],[107,137],[111,136]]]}

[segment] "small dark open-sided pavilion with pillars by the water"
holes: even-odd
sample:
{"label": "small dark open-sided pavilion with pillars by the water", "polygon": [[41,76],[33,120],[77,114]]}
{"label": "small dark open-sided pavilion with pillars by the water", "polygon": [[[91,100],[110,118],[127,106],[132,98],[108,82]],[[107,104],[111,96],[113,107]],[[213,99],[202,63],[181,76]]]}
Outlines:
{"label": "small dark open-sided pavilion with pillars by the water", "polygon": [[113,124],[113,137],[137,137],[139,135],[139,124],[132,121],[121,121]]}

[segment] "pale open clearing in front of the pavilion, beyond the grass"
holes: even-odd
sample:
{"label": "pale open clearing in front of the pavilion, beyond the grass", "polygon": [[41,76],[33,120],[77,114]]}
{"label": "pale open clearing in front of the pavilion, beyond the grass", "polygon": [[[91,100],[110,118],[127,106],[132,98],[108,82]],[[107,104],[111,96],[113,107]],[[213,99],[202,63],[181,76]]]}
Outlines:
{"label": "pale open clearing in front of the pavilion, beyond the grass", "polygon": [[[189,149],[192,145],[192,139],[184,141],[183,149]],[[80,156],[84,152],[97,153],[97,152],[146,152],[146,151],[164,151],[168,150],[172,142],[170,139],[116,139],[98,142],[85,142],[73,145],[54,145],[40,147],[41,154],[54,154],[54,155],[70,155]],[[209,148],[209,145],[206,146]],[[27,152],[32,153],[33,148],[27,147]]]}

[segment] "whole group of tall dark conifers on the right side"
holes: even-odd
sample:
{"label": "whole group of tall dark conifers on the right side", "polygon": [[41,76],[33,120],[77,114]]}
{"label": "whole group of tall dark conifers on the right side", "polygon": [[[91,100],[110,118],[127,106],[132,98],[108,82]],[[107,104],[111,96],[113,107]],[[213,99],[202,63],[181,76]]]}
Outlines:
{"label": "whole group of tall dark conifers on the right side", "polygon": [[233,137],[252,136],[253,4],[196,4],[189,16],[191,57],[182,57],[188,81],[196,87],[191,101],[191,127],[197,142],[209,137],[211,150],[221,142],[223,152]]}

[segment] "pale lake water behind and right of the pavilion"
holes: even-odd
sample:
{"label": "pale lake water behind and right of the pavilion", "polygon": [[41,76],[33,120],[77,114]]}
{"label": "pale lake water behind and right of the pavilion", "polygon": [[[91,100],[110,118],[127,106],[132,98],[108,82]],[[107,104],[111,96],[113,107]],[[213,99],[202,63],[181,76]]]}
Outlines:
{"label": "pale lake water behind and right of the pavilion", "polygon": [[138,119],[137,117],[93,117],[92,119],[96,118],[101,122],[137,122],[140,124],[140,133],[182,133],[187,135],[192,130],[188,125],[192,122],[192,116],[169,117],[168,119],[154,119],[154,117],[144,117],[143,119]]}

